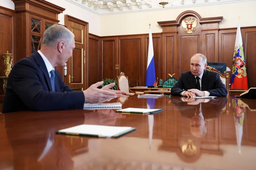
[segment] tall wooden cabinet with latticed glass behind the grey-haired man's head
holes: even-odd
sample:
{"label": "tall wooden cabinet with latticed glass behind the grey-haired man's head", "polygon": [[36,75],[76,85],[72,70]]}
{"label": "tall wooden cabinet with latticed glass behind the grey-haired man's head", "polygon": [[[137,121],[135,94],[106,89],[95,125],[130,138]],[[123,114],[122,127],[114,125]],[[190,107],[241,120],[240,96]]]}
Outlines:
{"label": "tall wooden cabinet with latticed glass behind the grey-haired man's head", "polygon": [[42,46],[44,31],[58,24],[58,14],[65,9],[45,0],[12,0],[16,12],[17,56],[20,59],[32,55]]}

